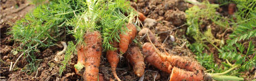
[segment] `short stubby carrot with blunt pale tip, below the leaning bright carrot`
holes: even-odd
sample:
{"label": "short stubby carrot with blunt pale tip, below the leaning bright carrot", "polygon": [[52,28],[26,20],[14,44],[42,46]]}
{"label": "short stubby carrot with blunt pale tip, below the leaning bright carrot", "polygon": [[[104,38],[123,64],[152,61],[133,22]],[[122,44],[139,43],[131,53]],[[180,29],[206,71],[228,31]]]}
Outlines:
{"label": "short stubby carrot with blunt pale tip, below the leaning bright carrot", "polygon": [[130,64],[133,66],[133,72],[138,76],[141,77],[144,74],[145,64],[144,58],[141,54],[139,47],[131,47],[129,52],[127,53],[127,59],[129,60]]}

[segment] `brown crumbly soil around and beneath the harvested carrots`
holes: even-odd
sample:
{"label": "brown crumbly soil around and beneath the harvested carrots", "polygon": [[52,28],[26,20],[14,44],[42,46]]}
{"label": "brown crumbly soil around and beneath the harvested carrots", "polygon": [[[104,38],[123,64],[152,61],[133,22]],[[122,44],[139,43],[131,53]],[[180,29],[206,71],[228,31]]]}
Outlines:
{"label": "brown crumbly soil around and beneath the harvested carrots", "polygon": [[[67,65],[66,70],[61,76],[59,76],[59,66],[61,65],[60,61],[64,56],[55,56],[58,51],[63,49],[63,47],[56,45],[40,50],[40,55],[38,55],[37,58],[42,59],[42,61],[39,62],[39,68],[35,72],[27,73],[26,71],[22,71],[22,68],[28,64],[26,59],[23,58],[20,59],[16,68],[12,72],[9,71],[11,62],[14,63],[22,52],[18,52],[14,55],[13,49],[16,49],[19,46],[19,43],[10,40],[12,36],[7,35],[6,32],[8,31],[8,28],[12,27],[16,20],[23,18],[30,10],[35,8],[35,5],[29,3],[29,0],[1,0],[0,76],[4,77],[1,78],[1,80],[44,81],[47,79],[48,81],[81,81],[82,77],[76,75],[74,70],[77,55],[71,56],[71,61]],[[137,0],[137,2],[131,1],[131,5],[147,16],[147,18],[156,20],[151,24],[146,22],[143,24],[153,33],[157,34],[157,39],[169,53],[189,58],[190,60],[195,60],[193,59],[193,53],[186,46],[187,39],[189,40],[191,38],[186,36],[187,26],[184,25],[186,22],[184,11],[189,7],[192,7],[191,4],[184,2],[184,0]],[[221,35],[224,30],[220,30],[220,28],[212,22],[205,21],[204,23],[211,24],[212,33],[217,39],[221,39],[222,36],[224,36],[224,39],[226,40],[228,38],[228,34],[231,33],[231,31],[227,31],[225,35]],[[206,27],[206,25],[202,27]],[[171,31],[162,33],[167,30]],[[73,39],[71,35],[67,35],[66,38],[66,42]],[[57,43],[60,44],[60,42]],[[254,43],[256,44],[256,42]],[[216,63],[221,63],[220,59],[218,59],[217,49],[212,47],[210,44],[208,46],[215,55]],[[106,58],[105,54],[106,53],[103,53],[103,58]],[[60,60],[54,60],[56,57]],[[108,81],[110,77],[114,78],[106,59],[101,60],[104,61],[101,62],[99,73],[104,75],[104,79],[106,81]],[[146,68],[144,78],[139,78],[134,75],[132,66],[129,65],[125,58],[123,58],[117,66],[117,75],[122,81],[138,81],[139,79],[143,79],[144,81],[169,81],[169,74],[161,72],[160,70],[150,66],[146,61],[145,63]],[[253,76],[250,72],[253,72],[254,70],[249,71],[249,73],[246,72],[246,75]]]}

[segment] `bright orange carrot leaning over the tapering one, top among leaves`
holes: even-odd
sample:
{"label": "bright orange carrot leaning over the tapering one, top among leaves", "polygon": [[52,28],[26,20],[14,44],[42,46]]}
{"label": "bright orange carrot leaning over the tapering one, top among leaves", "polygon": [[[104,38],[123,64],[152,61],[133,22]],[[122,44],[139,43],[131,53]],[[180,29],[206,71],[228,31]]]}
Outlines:
{"label": "bright orange carrot leaning over the tapering one, top among leaves", "polygon": [[126,27],[129,29],[129,30],[132,30],[132,31],[126,31],[126,34],[120,34],[120,43],[119,43],[119,51],[121,53],[125,53],[128,49],[128,46],[129,46],[129,43],[132,42],[132,40],[135,38],[136,36],[136,28],[133,24],[126,24]]}

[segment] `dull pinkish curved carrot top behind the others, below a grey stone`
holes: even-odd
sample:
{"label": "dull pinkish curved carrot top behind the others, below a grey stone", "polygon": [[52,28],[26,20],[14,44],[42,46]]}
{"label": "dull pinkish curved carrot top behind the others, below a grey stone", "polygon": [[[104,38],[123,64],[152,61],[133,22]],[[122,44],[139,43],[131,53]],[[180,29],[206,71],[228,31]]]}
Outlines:
{"label": "dull pinkish curved carrot top behind the others, below a grey stone", "polygon": [[155,35],[153,34],[153,32],[151,30],[149,30],[148,28],[143,28],[140,30],[140,32],[138,33],[139,36],[143,36],[144,34],[149,35],[150,40],[154,43],[154,44],[158,44],[158,40],[156,39]]}

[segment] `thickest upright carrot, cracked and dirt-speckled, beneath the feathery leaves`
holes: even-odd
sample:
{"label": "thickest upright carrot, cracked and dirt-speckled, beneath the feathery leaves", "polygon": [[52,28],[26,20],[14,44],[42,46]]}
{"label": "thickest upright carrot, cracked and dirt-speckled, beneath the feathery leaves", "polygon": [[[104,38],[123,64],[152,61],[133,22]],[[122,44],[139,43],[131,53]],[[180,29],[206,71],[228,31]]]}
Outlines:
{"label": "thickest upright carrot, cracked and dirt-speckled, beneath the feathery leaves", "polygon": [[85,41],[85,81],[97,81],[102,52],[101,35],[98,31],[89,31],[84,35]]}

